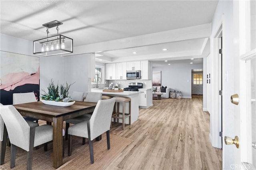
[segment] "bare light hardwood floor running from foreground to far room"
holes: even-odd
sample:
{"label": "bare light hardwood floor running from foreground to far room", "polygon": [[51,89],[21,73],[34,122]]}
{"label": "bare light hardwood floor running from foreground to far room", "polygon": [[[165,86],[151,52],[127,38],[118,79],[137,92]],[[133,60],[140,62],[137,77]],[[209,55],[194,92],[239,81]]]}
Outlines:
{"label": "bare light hardwood floor running from foreground to far room", "polygon": [[154,106],[140,109],[138,121],[125,130],[112,123],[112,134],[134,141],[106,169],[222,169],[222,150],[210,144],[210,115],[202,103],[198,95],[153,100]]}

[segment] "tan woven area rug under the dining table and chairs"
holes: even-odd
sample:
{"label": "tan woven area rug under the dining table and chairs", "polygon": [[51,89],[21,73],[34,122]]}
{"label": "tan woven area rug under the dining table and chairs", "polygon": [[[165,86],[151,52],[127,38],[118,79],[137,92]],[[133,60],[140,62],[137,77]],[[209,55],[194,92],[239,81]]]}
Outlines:
{"label": "tan woven area rug under the dining table and chairs", "polygon": [[[68,141],[64,141],[65,154],[63,165],[58,170],[102,170],[106,168],[122,150],[132,143],[132,140],[110,134],[110,150],[107,149],[106,134],[102,135],[102,140],[93,141],[94,164],[90,164],[89,144],[82,145],[82,138],[73,137],[72,155],[68,156]],[[15,167],[12,170],[26,170],[27,154],[26,151],[17,148]],[[10,147],[6,147],[4,164],[1,170],[10,169]],[[55,170],[52,167],[52,143],[48,144],[48,151],[44,152],[44,147],[34,149],[33,170]]]}

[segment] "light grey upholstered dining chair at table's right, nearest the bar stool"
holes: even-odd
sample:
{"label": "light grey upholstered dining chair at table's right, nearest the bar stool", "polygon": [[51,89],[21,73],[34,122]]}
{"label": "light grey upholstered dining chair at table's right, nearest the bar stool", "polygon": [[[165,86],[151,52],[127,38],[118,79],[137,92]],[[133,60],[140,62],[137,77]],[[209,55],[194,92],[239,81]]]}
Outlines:
{"label": "light grey upholstered dining chair at table's right, nearest the bar stool", "polygon": [[116,98],[99,100],[92,117],[68,128],[68,156],[71,155],[72,135],[89,139],[90,162],[94,163],[92,141],[106,132],[107,147],[110,149],[110,123]]}

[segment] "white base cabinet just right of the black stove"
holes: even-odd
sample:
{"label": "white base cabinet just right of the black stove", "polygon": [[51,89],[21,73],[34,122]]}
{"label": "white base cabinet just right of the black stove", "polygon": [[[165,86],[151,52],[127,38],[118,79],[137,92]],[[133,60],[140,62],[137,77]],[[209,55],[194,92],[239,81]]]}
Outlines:
{"label": "white base cabinet just right of the black stove", "polygon": [[152,92],[151,89],[139,89],[139,107],[147,109],[151,106]]}

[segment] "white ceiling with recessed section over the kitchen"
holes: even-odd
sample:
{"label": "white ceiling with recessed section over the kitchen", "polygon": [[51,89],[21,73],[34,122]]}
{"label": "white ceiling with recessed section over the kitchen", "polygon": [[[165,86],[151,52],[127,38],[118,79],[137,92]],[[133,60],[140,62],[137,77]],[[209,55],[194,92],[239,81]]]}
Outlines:
{"label": "white ceiling with recessed section over the kitchen", "polygon": [[[128,40],[130,37],[153,35],[159,32],[194,27],[211,23],[217,0],[166,0],[166,1],[0,1],[2,34],[34,41],[46,37],[42,24],[58,20],[59,33],[74,39],[74,47],[106,42]],[[50,35],[56,35],[50,28]],[[184,35],[176,35],[184,36]],[[87,46],[86,46],[87,45]],[[162,49],[168,49],[162,51]],[[75,49],[75,48],[74,48]],[[107,49],[107,48],[105,48]],[[190,58],[202,58],[210,50],[207,37],[184,39],[140,47],[104,50],[103,63],[119,58],[129,61],[132,57],[153,61],[153,66],[166,64],[164,60],[190,62]],[[136,51],[137,54],[132,54]],[[200,53],[195,53],[200,51]],[[94,51],[96,52],[96,51]],[[101,59],[101,57],[97,57]],[[202,59],[198,59],[198,62]]]}

